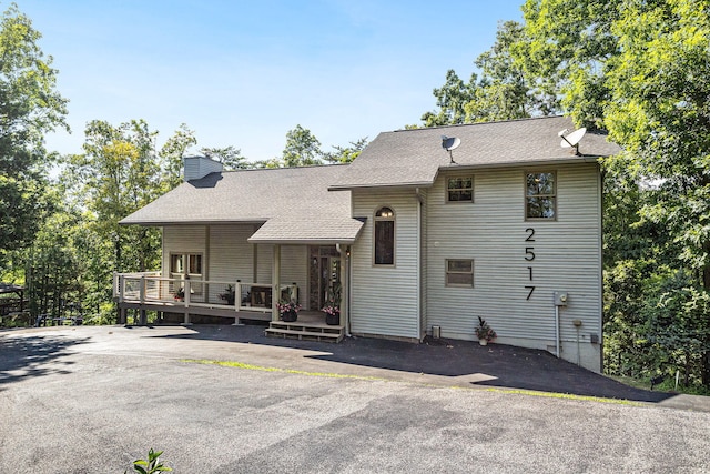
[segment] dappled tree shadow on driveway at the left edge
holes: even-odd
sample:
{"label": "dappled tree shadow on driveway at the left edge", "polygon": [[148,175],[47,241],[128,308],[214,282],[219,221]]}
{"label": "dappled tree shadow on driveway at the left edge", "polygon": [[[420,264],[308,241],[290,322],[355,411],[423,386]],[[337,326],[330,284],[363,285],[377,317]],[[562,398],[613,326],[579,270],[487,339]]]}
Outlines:
{"label": "dappled tree shadow on driveway at the left edge", "polygon": [[[13,335],[0,333],[0,391],[3,384],[48,374],[70,373],[72,361],[62,361],[70,347],[83,344],[87,339],[61,335]],[[58,363],[60,365],[58,365]]]}

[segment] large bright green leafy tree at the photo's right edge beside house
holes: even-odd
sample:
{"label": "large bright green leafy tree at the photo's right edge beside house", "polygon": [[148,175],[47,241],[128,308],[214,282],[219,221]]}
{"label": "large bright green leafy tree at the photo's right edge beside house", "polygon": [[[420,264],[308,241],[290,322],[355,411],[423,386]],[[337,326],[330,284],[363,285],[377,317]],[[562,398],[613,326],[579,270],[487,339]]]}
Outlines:
{"label": "large bright green leafy tree at the photo's right edge beside house", "polygon": [[[655,226],[659,234],[649,246],[656,266],[641,275],[649,302],[641,310],[645,340],[657,350],[651,360],[678,364],[681,346],[692,347],[683,370],[700,372],[706,386],[709,10],[703,0],[528,0],[524,7],[527,70],[561,84],[562,104],[578,124],[602,127],[623,147],[605,160],[608,175],[629,177],[643,189],[632,225]],[[667,292],[674,296],[659,297]],[[674,335],[659,343],[660,334]]]}

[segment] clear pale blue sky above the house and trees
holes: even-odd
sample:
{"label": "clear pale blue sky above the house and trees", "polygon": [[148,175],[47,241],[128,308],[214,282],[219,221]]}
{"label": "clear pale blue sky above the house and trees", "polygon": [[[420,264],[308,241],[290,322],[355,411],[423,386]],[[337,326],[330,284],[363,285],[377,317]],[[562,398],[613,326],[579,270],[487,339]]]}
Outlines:
{"label": "clear pale blue sky above the house and trees", "polygon": [[[523,0],[17,0],[54,58],[79,153],[87,122],[144,119],[159,145],[181,123],[197,147],[280,155],[301,124],[325,150],[419,123],[432,90],[463,79]],[[9,2],[1,2],[4,11]]]}

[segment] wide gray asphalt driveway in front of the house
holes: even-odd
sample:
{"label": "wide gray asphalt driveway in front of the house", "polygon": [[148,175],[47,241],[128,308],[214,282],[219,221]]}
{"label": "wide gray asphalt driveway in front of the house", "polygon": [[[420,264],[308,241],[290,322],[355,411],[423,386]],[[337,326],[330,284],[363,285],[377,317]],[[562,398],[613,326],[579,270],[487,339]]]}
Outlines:
{"label": "wide gray asphalt driveway in front of the house", "polygon": [[0,472],[118,473],[149,447],[179,473],[708,472],[697,399],[495,344],[0,331]]}

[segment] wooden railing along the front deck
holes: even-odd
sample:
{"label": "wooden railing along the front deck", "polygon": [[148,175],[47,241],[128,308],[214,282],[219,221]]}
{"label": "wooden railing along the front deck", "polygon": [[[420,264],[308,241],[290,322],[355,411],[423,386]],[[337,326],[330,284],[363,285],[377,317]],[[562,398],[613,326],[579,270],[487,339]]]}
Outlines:
{"label": "wooden railing along the front deck", "polygon": [[[298,300],[295,284],[280,284],[280,300]],[[224,307],[234,311],[272,311],[271,283],[169,279],[160,272],[115,273],[113,296],[120,302],[173,306]]]}

